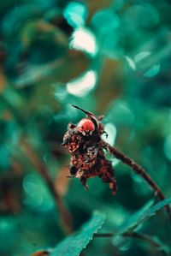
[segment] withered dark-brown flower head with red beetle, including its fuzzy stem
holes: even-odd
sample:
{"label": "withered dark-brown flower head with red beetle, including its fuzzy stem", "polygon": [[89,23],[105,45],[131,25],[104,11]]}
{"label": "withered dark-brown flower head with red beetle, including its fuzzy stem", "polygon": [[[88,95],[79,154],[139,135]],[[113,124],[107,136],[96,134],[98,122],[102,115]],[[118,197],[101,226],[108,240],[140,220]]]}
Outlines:
{"label": "withered dark-brown flower head with red beetle, including its fuzzy stem", "polygon": [[[117,191],[115,170],[111,161],[105,157],[105,151],[107,151],[113,154],[115,158],[120,159],[123,164],[129,165],[136,174],[141,176],[150,185],[150,188],[153,189],[158,199],[165,199],[156,182],[151,179],[139,164],[102,139],[102,135],[106,134],[101,122],[104,116],[95,116],[76,105],[72,104],[72,106],[83,111],[86,116],[76,125],[69,123],[68,131],[63,137],[62,146],[71,154],[70,176],[68,177],[79,178],[80,182],[87,189],[87,180],[98,176],[103,182],[109,184],[109,188],[115,194]],[[171,211],[168,205],[166,205],[166,210],[170,216]]]}

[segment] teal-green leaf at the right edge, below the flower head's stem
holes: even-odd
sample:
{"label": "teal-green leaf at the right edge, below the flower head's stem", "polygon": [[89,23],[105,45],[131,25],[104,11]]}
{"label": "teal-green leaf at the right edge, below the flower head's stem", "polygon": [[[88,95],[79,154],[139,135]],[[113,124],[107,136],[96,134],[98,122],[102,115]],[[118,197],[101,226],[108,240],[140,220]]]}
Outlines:
{"label": "teal-green leaf at the right edge, below the flower head's stem", "polygon": [[147,205],[144,205],[140,211],[136,212],[136,214],[132,215],[131,217],[127,217],[126,222],[121,225],[119,234],[121,235],[123,233],[135,230],[139,227],[140,223],[144,222],[146,219],[156,214],[156,211],[159,211],[162,207],[170,203],[171,198],[164,199],[153,206],[151,206],[152,201],[150,201]]}

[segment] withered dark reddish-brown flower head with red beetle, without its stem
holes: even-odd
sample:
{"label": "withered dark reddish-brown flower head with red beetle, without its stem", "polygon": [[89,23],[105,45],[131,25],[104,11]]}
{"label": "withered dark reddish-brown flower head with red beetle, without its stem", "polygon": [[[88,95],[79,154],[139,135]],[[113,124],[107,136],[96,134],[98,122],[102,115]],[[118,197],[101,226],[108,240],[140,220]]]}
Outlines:
{"label": "withered dark reddish-brown flower head with red beetle, without its stem", "polygon": [[[74,106],[74,105],[73,105]],[[80,109],[77,106],[75,108]],[[111,162],[105,158],[103,148],[105,142],[101,135],[105,134],[103,116],[95,116],[82,110],[86,118],[80,120],[78,125],[68,124],[68,131],[63,137],[62,146],[72,155],[70,161],[70,176],[80,179],[85,188],[87,179],[99,176],[103,182],[109,183],[112,193],[116,193],[116,182]]]}

